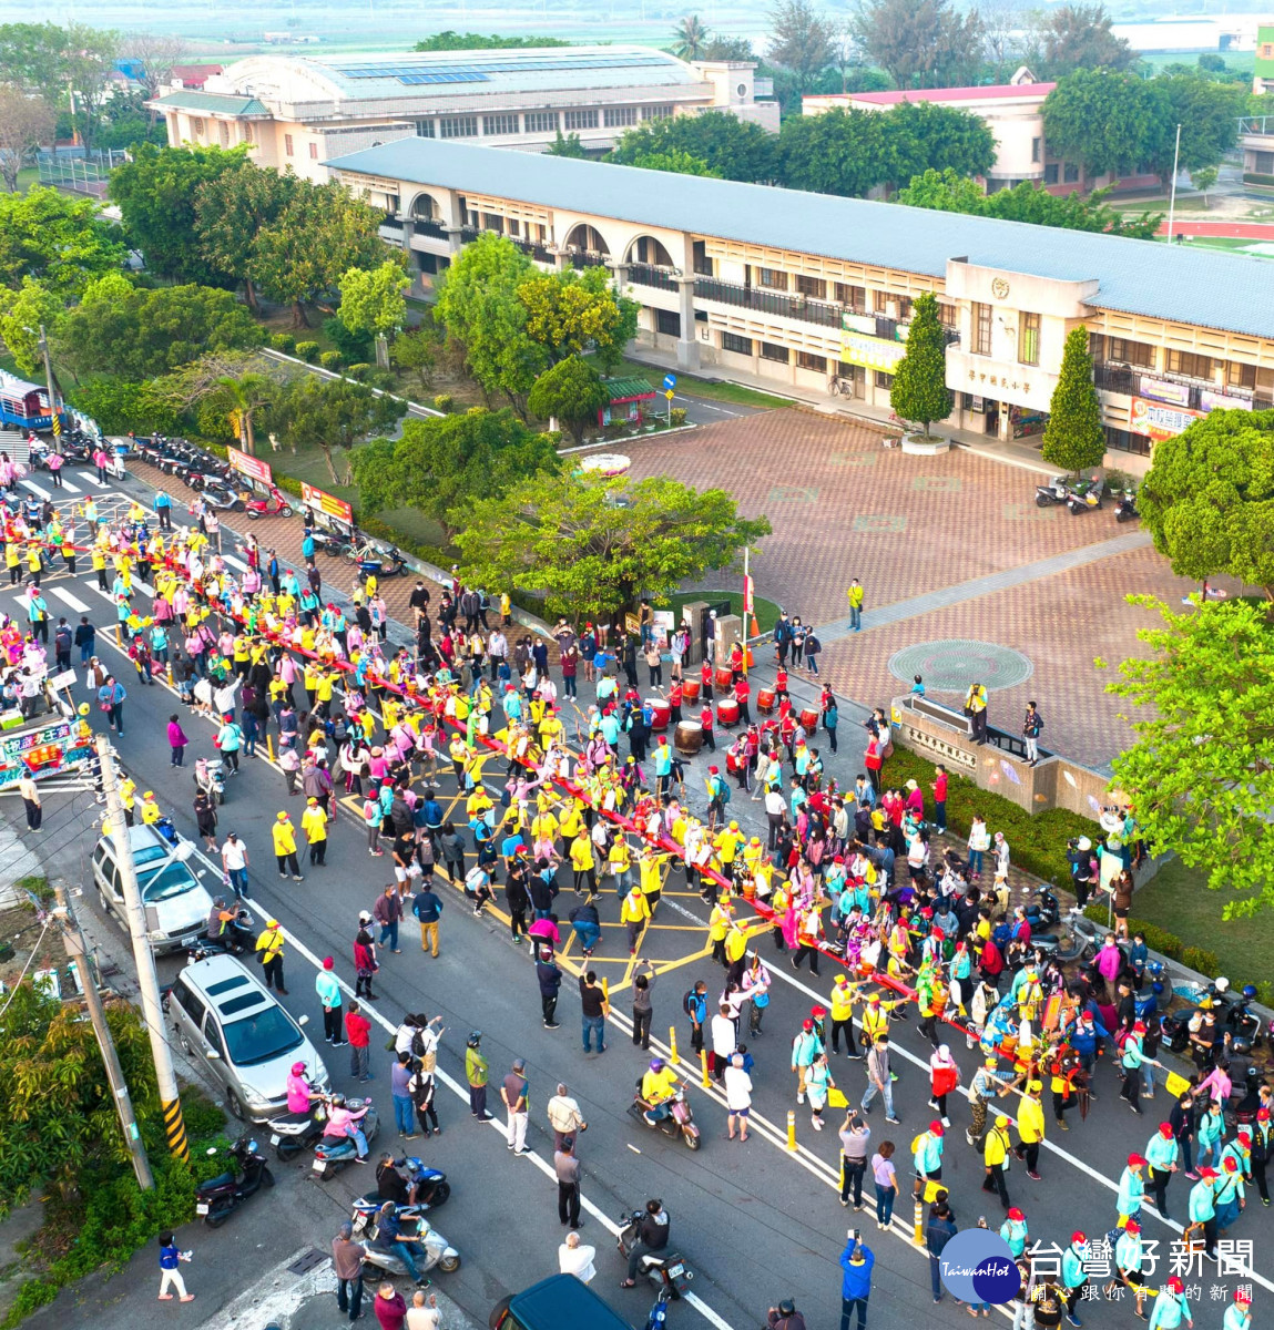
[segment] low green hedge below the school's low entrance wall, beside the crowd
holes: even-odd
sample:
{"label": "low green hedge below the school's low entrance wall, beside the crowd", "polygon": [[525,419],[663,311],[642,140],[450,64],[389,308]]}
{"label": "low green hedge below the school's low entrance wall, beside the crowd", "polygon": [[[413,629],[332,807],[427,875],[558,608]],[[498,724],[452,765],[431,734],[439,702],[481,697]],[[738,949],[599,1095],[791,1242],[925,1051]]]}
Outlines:
{"label": "low green hedge below the school's low entrance wall, beside the crowd", "polygon": [[[1067,841],[1072,837],[1100,837],[1097,825],[1068,809],[1048,809],[1031,814],[1020,809],[1012,799],[988,790],[979,790],[967,777],[948,769],[947,785],[947,826],[968,835],[977,813],[987,819],[988,830],[1003,831],[1009,843],[1013,863],[1037,878],[1065,886],[1071,880],[1071,863],[1067,859]],[[898,786],[912,779],[924,793],[926,803],[932,807],[934,762],[908,749],[896,746],[894,755],[884,763],[883,779],[887,786]]]}

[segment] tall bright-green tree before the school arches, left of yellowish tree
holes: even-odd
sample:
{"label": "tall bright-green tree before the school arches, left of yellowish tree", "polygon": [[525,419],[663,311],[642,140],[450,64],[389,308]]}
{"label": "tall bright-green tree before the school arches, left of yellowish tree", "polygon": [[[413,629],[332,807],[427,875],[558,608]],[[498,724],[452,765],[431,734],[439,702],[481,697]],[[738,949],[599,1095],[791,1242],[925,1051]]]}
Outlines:
{"label": "tall bright-green tree before the school arches, left of yellowish tree", "polygon": [[519,286],[536,271],[507,237],[479,235],[443,274],[434,306],[488,404],[503,392],[523,419],[531,384],[548,363],[544,348],[527,332],[527,307],[519,298]]}

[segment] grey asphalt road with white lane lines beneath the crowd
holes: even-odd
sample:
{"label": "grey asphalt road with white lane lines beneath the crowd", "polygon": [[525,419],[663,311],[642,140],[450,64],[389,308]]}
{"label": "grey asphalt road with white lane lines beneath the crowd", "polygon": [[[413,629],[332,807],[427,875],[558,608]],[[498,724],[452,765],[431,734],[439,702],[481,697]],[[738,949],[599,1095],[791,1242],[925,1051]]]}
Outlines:
{"label": "grey asphalt road with white lane lines beneath the crowd", "polygon": [[[69,479],[81,489],[90,488],[81,471],[72,471]],[[129,492],[134,485],[132,479],[124,483]],[[98,625],[113,622],[113,612],[92,585],[90,577],[52,577],[45,587],[55,613],[65,606],[68,614],[92,613]],[[0,591],[0,608],[12,614],[23,613],[17,593],[9,588]],[[193,716],[182,717],[194,742],[186,753],[186,770],[174,773],[164,737],[168,716],[180,710],[174,696],[162,684],[148,689],[133,682],[128,662],[114,648],[110,633],[100,633],[98,645],[108,665],[118,666],[121,678],[128,680],[128,728],[125,737],[117,741],[120,757],[138,787],[154,789],[181,831],[193,837],[190,803],[194,790],[189,769],[197,754],[213,753],[211,730]],[[93,714],[98,713],[94,710]],[[852,761],[842,757],[840,765],[848,770]],[[843,773],[838,774],[844,778]],[[493,766],[488,766],[487,775],[495,775]],[[285,999],[289,1009],[297,1016],[309,1015],[311,1031],[320,1028],[320,1011],[313,987],[315,966],[323,956],[335,956],[338,974],[352,982],[351,943],[358,911],[370,908],[383,888],[388,876],[384,861],[368,858],[360,827],[352,817],[343,817],[332,829],[327,866],[307,868],[303,883],[282,882],[274,871],[269,827],[275,811],[285,806],[290,807],[294,821],[299,821],[301,799],[289,801],[285,797],[282,777],[263,757],[246,761],[242,774],[229,785],[221,834],[235,830],[245,839],[253,857],[253,907],[261,918],[275,915],[291,939],[287,952],[289,996]],[[448,799],[455,797],[449,777],[442,782],[442,789]],[[702,802],[692,791],[692,803]],[[11,819],[15,803],[5,801],[3,810]],[[758,807],[746,797],[737,795],[731,815],[741,817],[750,829],[757,825]],[[88,854],[94,837],[88,815],[90,809],[90,801],[82,795],[74,801],[55,795],[47,813],[51,833],[45,841],[57,845],[60,854],[70,855],[81,872],[88,871]],[[16,811],[20,817],[20,809]],[[210,871],[209,880],[214,882],[213,866],[205,866]],[[88,879],[81,880],[88,888]],[[678,882],[680,875],[670,886],[676,888]],[[569,892],[563,904],[569,910]],[[86,912],[100,908],[90,890],[85,890],[84,908]],[[601,912],[604,920],[613,923],[617,919],[613,894],[605,898]],[[670,894],[657,923],[672,927],[666,938],[650,938],[660,968],[665,970],[656,988],[654,1029],[666,1044],[669,1027],[677,1025],[685,1053],[689,1039],[681,1015],[682,992],[693,978],[701,975],[709,982],[710,992],[717,992],[719,986],[718,968],[703,956],[705,934],[692,931],[706,924],[706,906],[697,896]],[[101,923],[101,927],[110,926]],[[609,930],[608,938],[616,934],[617,930]],[[384,954],[378,979],[382,999],[374,1009],[386,1031],[391,1031],[398,1016],[406,1011],[440,1013],[446,1023],[439,1059],[448,1085],[439,1096],[446,1132],[436,1142],[419,1144],[430,1146],[423,1153],[430,1162],[444,1168],[455,1184],[452,1200],[440,1212],[439,1226],[461,1250],[464,1265],[457,1274],[440,1277],[440,1286],[469,1314],[483,1321],[503,1293],[523,1287],[556,1267],[560,1229],[555,1222],[556,1189],[549,1176],[552,1137],[547,1132],[544,1104],[561,1080],[571,1087],[589,1120],[581,1158],[588,1202],[585,1237],[598,1245],[600,1257],[594,1287],[634,1323],[642,1323],[649,1298],[645,1291],[621,1293],[616,1287],[622,1269],[610,1252],[606,1229],[613,1226],[613,1218],[622,1209],[640,1205],[650,1196],[664,1200],[673,1216],[673,1242],[698,1273],[694,1283],[697,1303],[674,1310],[680,1325],[700,1326],[706,1321],[717,1330],[753,1330],[763,1321],[766,1307],[785,1295],[797,1298],[811,1330],[835,1325],[839,1311],[836,1260],[850,1222],[862,1224],[868,1245],[878,1254],[871,1301],[875,1326],[903,1330],[920,1319],[943,1326],[964,1323],[964,1311],[955,1307],[950,1298],[940,1307],[931,1302],[927,1262],[908,1241],[911,1206],[906,1198],[900,1198],[894,1229],[887,1234],[874,1228],[870,1213],[855,1216],[852,1210],[840,1209],[835,1194],[835,1124],[830,1123],[827,1130],[815,1133],[807,1113],[797,1109],[794,1103],[789,1041],[811,1004],[826,1004],[834,966],[825,962],[822,978],[814,980],[806,972],[794,974],[786,956],[775,956],[767,934],[758,934],[757,944],[771,964],[775,984],[765,1033],[753,1047],[757,1057],[755,1134],[743,1145],[727,1141],[721,1096],[714,1089],[701,1088],[693,1075],[694,1068],[688,1067],[690,1099],[703,1129],[703,1148],[693,1154],[636,1124],[625,1112],[633,1083],[646,1061],[633,1048],[624,1028],[628,958],[622,951],[626,948],[621,948],[606,966],[606,972],[614,976],[616,1017],[609,1036],[612,1043],[600,1057],[585,1057],[581,1051],[577,999],[569,987],[564,986],[563,991],[561,1028],[545,1029],[525,948],[511,946],[499,918],[491,914],[473,918],[459,896],[448,896],[440,959],[432,960],[418,952],[414,928],[403,932],[402,955]],[[605,950],[600,948],[600,954]],[[567,963],[571,963],[569,952]],[[162,970],[170,979],[177,964],[165,962]],[[493,1081],[499,1081],[513,1057],[521,1056],[528,1061],[532,1104],[529,1142],[535,1149],[531,1157],[511,1157],[497,1129],[499,1121],[480,1127],[465,1111],[463,1087],[456,1080],[463,1080],[464,1041],[473,1028],[484,1033],[483,1047],[491,1060]],[[383,1128],[379,1144],[398,1149],[400,1142],[392,1136],[386,1089],[388,1055],[383,1052],[383,1043],[379,1036],[372,1043],[378,1076],[372,1091],[382,1116],[390,1124]],[[895,1093],[903,1125],[887,1128],[878,1109],[872,1128],[876,1133],[874,1140],[891,1132],[900,1157],[899,1173],[903,1174],[910,1162],[908,1144],[932,1116],[926,1108],[928,1087],[922,1069],[928,1048],[907,1025],[896,1029],[895,1048],[900,1076]],[[976,1063],[965,1052],[963,1040],[957,1040],[954,1051],[967,1084]],[[343,1055],[330,1052],[328,1065],[336,1087],[346,1092],[355,1091]],[[858,1099],[864,1085],[862,1069],[843,1057],[834,1063],[838,1084],[851,1100]],[[1049,1119],[1051,1138],[1041,1160],[1044,1181],[1027,1181],[1020,1166],[1011,1174],[1013,1201],[1027,1210],[1032,1236],[1045,1244],[1056,1241],[1064,1246],[1076,1226],[1093,1236],[1113,1226],[1114,1182],[1110,1180],[1118,1177],[1129,1152],[1145,1152],[1158,1115],[1166,1116],[1168,1104],[1161,1089],[1157,1104],[1146,1105],[1146,1115],[1132,1120],[1126,1107],[1116,1099],[1109,1068],[1098,1069],[1096,1089],[1100,1103],[1088,1123],[1076,1124],[1071,1133],[1055,1140],[1057,1133]],[[497,1096],[492,1097],[497,1101]],[[785,1140],[789,1109],[797,1109],[795,1152],[786,1148]],[[834,1116],[828,1113],[830,1119]],[[979,1190],[983,1177],[980,1158],[963,1141],[963,1127],[968,1121],[963,1101],[955,1104],[952,1119],[943,1178],[951,1188],[957,1221],[968,1226],[979,1214],[987,1213],[997,1226],[999,1208],[984,1206],[983,1201],[991,1198]],[[306,1164],[294,1168],[303,1173]],[[340,1198],[367,1185],[364,1170],[346,1170],[326,1184],[303,1184],[306,1189]],[[1169,1189],[1172,1213],[1177,1217],[1185,1208],[1185,1186],[1177,1180]],[[265,1210],[269,1204],[266,1200],[259,1209]],[[1166,1242],[1180,1229],[1165,1226],[1153,1212],[1144,1214],[1146,1237],[1160,1240],[1161,1250],[1166,1253]],[[1261,1252],[1259,1234],[1269,1236],[1269,1216],[1259,1206],[1249,1206],[1235,1233],[1242,1238],[1254,1238]],[[326,1240],[326,1232],[313,1236],[314,1244],[320,1248]],[[275,1252],[273,1258],[277,1260],[278,1254]],[[1266,1262],[1258,1258],[1258,1270],[1263,1266]],[[1267,1275],[1269,1270],[1262,1273]],[[1265,1279],[1258,1279],[1258,1283],[1262,1289],[1271,1289]],[[1262,1297],[1258,1290],[1258,1310]],[[1197,1314],[1202,1325],[1219,1322],[1221,1306],[1213,1313],[1205,1303]],[[1102,1306],[1094,1309],[1093,1315],[1100,1325],[1132,1319],[1130,1311],[1121,1306]]]}

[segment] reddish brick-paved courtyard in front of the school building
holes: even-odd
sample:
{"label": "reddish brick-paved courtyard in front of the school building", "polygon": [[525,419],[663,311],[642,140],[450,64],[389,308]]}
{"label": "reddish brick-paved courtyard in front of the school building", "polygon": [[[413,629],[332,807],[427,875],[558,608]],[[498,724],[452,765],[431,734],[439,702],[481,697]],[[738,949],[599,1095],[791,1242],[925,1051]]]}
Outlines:
{"label": "reddish brick-paved courtyard in front of the school building", "polygon": [[[1197,588],[1142,545],[989,593],[973,588],[957,604],[872,628],[872,610],[899,601],[988,575],[1011,579],[1023,565],[1065,561],[1117,537],[1132,537],[1124,547],[1136,543],[1136,528],[1117,525],[1109,507],[1081,516],[1036,508],[1040,477],[1029,471],[963,451],[904,456],[879,439],[866,424],[770,411],[634,444],[633,473],[722,485],[746,515],[769,516],[774,535],[753,560],[758,593],[807,624],[826,625],[822,669],[838,692],[884,702],[906,692],[888,670],[902,648],[939,638],[995,642],[1021,652],[1035,669],[1025,682],[992,694],[992,724],[1016,728],[1035,698],[1047,747],[1108,763],[1130,730],[1118,718],[1118,701],[1104,692],[1113,669],[1097,672],[1093,658],[1113,668],[1134,654],[1137,629],[1153,618],[1124,596],[1152,592],[1176,605]],[[863,632],[836,636],[854,576],[867,592]]]}

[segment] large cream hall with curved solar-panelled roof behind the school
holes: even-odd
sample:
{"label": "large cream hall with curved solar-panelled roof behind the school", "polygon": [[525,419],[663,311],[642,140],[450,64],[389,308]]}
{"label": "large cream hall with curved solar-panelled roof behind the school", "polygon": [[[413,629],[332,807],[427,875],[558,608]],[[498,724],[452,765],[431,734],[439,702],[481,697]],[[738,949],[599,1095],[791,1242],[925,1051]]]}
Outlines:
{"label": "large cream hall with curved solar-panelled roof behind the school", "polygon": [[628,128],[706,109],[778,129],[751,61],[686,64],[646,47],[250,56],[169,88],[149,106],[177,144],[251,144],[262,166],[326,180],[323,164],[398,138],[451,138],[540,153],[559,133],[589,150]]}

